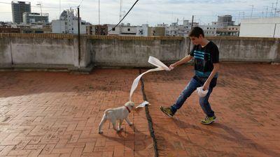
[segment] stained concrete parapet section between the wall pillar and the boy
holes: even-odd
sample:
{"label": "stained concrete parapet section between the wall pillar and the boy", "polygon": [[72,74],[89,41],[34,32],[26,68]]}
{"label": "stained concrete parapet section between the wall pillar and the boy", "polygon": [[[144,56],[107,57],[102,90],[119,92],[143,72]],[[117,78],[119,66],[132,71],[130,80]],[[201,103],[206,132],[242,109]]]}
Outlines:
{"label": "stained concrete parapet section between the wall pillar and the boy", "polygon": [[[125,38],[123,38],[125,39]],[[178,60],[185,56],[183,40],[118,40],[90,39],[92,61],[97,66],[146,67],[148,57],[157,57],[163,62]]]}

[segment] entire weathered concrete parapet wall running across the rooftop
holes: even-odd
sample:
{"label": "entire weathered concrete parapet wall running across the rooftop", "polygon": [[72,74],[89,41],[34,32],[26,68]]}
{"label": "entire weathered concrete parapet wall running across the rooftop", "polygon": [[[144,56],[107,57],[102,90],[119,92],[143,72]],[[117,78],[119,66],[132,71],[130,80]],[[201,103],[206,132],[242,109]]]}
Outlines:
{"label": "entire weathered concrete parapet wall running across the rooftop", "polygon": [[[221,61],[279,62],[279,38],[208,37]],[[0,68],[148,67],[148,57],[172,63],[188,54],[187,37],[78,36],[0,33]],[[80,59],[79,59],[80,58]]]}

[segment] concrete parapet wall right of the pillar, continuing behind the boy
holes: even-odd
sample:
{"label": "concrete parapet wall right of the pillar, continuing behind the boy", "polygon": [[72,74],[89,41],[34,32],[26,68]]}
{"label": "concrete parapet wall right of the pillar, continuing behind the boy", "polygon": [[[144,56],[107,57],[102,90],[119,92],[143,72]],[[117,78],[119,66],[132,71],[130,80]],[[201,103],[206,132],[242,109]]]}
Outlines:
{"label": "concrete parapet wall right of the pillar, continuing behind the boy", "polygon": [[[279,38],[207,37],[219,47],[221,61],[279,62]],[[90,40],[90,41],[89,41]],[[172,63],[188,54],[189,38],[90,36],[97,66],[151,66],[149,56]],[[190,45],[190,50],[193,45]]]}

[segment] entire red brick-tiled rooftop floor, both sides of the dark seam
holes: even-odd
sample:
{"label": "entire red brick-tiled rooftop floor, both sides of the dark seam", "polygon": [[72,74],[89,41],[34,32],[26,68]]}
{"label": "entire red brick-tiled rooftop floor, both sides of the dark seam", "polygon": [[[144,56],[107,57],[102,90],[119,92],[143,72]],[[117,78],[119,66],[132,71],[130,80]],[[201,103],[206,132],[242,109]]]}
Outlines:
{"label": "entire red brick-tiled rooftop floor, both sides of the dark seam", "polygon": [[[104,110],[123,105],[139,70],[97,69],[91,75],[0,73],[0,156],[154,156],[144,109],[130,114],[133,127],[116,133],[97,126]],[[218,121],[203,126],[194,93],[169,118],[193,76],[192,66],[144,76],[159,156],[280,156],[280,66],[223,64],[211,105]],[[143,101],[141,89],[134,102]]]}

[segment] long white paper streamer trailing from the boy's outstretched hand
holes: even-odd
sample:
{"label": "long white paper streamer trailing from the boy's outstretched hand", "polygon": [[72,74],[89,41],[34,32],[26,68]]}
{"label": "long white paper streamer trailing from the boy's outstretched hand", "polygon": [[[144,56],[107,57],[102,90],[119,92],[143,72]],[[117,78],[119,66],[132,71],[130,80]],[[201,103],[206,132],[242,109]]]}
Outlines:
{"label": "long white paper streamer trailing from the boy's outstretched hand", "polygon": [[170,70],[164,63],[162,63],[160,60],[158,60],[155,57],[149,57],[148,62],[153,64],[154,66],[157,66],[158,68],[153,68],[150,69],[148,71],[146,71],[145,73],[142,73],[141,75],[139,75],[138,77],[136,77],[136,79],[134,79],[133,83],[132,83],[132,87],[130,89],[130,101],[132,101],[132,95],[133,92],[135,91],[135,89],[137,89],[138,83],[140,78],[145,75],[146,73],[150,73],[152,71],[160,71],[160,70]]}

